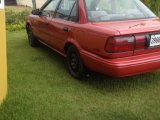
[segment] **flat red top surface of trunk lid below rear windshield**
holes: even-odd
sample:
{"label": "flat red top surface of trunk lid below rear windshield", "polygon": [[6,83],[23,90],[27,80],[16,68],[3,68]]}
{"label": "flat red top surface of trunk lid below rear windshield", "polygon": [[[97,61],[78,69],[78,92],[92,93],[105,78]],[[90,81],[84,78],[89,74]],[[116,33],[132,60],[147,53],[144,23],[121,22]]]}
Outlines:
{"label": "flat red top surface of trunk lid below rear windshield", "polygon": [[97,22],[93,25],[112,28],[120,32],[121,35],[127,34],[139,34],[149,32],[160,32],[160,19],[139,19],[139,20],[127,20],[127,21],[112,21],[112,22]]}

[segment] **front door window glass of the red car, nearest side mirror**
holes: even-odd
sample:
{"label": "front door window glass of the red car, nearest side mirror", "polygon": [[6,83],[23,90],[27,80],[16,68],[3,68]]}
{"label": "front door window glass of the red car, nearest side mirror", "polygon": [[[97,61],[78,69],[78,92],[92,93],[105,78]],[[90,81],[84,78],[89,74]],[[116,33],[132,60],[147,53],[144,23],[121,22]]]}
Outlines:
{"label": "front door window glass of the red car, nearest side mirror", "polygon": [[42,11],[42,16],[53,18],[55,15],[55,11],[59,0],[52,0]]}

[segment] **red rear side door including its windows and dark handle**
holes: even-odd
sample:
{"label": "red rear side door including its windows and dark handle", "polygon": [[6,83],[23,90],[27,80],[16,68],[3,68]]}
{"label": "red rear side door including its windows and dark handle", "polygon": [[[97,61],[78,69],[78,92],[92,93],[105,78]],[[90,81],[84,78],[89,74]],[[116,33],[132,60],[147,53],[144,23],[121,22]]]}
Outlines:
{"label": "red rear side door including its windows and dark handle", "polygon": [[72,30],[72,25],[78,22],[77,0],[61,0],[56,16],[51,20],[52,46],[58,51],[64,50],[64,43]]}

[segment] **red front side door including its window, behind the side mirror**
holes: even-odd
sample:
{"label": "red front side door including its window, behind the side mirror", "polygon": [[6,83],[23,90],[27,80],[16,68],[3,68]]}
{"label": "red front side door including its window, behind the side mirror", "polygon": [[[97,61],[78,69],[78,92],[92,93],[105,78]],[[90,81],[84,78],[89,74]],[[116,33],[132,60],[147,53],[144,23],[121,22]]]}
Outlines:
{"label": "red front side door including its window, behind the side mirror", "polygon": [[38,37],[47,45],[50,45],[52,39],[52,30],[50,29],[51,19],[55,16],[56,8],[60,0],[50,0],[44,7],[41,8],[41,14],[39,15],[37,22]]}

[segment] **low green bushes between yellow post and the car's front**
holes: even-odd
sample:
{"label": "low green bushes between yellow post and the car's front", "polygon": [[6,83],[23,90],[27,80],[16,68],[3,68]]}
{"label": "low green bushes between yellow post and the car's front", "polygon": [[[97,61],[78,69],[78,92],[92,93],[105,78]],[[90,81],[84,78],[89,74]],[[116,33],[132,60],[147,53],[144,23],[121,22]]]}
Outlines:
{"label": "low green bushes between yellow post and the car's front", "polygon": [[6,9],[6,25],[8,31],[22,30],[25,28],[26,16],[29,15],[29,11],[23,10],[15,12],[11,9]]}

